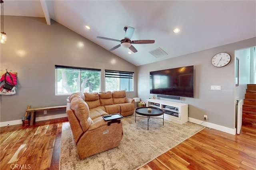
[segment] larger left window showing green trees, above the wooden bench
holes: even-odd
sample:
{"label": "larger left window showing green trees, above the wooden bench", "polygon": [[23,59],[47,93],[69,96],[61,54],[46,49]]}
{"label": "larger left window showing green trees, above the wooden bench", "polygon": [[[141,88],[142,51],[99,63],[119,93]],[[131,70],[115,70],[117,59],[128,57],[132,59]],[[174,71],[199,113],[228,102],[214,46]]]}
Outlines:
{"label": "larger left window showing green trees, above the wooden bench", "polygon": [[100,69],[55,65],[55,94],[100,92]]}

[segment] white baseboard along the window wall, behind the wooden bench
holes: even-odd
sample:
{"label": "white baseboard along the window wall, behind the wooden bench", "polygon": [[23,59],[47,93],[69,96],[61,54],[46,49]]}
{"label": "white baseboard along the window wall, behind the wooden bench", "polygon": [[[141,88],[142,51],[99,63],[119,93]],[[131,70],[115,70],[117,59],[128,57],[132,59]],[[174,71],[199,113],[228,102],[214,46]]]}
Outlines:
{"label": "white baseboard along the window wall, behind the wooden bench", "polygon": [[[68,117],[67,113],[58,114],[58,115],[50,115],[50,116],[42,116],[42,117],[36,117],[36,121],[44,121],[44,120],[50,120],[50,119],[58,119],[62,117]],[[11,125],[19,125],[22,124],[22,119],[20,120],[13,120],[13,121],[4,121],[0,122],[0,127],[4,126],[11,126]]]}

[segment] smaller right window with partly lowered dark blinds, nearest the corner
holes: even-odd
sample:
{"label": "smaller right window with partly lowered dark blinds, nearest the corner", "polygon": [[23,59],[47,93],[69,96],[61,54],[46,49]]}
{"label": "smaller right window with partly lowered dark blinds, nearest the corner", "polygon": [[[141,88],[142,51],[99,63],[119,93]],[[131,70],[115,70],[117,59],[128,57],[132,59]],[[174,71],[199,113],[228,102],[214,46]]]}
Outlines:
{"label": "smaller right window with partly lowered dark blinds, nearest the corner", "polygon": [[105,91],[133,92],[134,72],[105,70]]}

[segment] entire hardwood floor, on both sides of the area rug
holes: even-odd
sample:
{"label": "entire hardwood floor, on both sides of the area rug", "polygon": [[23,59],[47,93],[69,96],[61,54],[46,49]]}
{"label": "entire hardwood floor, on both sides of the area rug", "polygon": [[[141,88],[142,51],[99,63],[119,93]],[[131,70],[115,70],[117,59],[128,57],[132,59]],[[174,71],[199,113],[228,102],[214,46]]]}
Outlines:
{"label": "entire hardwood floor, on both sides of the area rug", "polygon": [[[59,169],[62,123],[0,128],[0,169]],[[16,167],[15,167],[16,166]],[[242,126],[240,135],[204,129],[139,170],[256,170],[256,129]]]}

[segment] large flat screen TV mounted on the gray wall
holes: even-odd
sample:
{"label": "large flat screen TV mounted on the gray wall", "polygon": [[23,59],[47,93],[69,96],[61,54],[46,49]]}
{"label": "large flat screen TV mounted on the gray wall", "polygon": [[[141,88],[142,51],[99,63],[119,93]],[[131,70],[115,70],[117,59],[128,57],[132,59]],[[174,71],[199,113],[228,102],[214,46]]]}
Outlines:
{"label": "large flat screen TV mounted on the gray wall", "polygon": [[194,98],[194,66],[150,72],[150,93]]}

